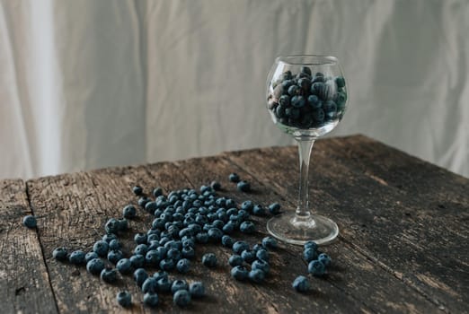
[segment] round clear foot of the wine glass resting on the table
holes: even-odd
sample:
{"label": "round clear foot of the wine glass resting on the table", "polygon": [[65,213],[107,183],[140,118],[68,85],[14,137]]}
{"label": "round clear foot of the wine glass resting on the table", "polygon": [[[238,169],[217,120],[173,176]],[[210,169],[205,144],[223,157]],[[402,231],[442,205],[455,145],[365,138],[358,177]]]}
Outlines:
{"label": "round clear foot of the wine glass resting on the table", "polygon": [[337,223],[318,214],[297,217],[295,212],[275,216],[267,222],[267,230],[275,238],[297,245],[313,240],[328,244],[339,235]]}

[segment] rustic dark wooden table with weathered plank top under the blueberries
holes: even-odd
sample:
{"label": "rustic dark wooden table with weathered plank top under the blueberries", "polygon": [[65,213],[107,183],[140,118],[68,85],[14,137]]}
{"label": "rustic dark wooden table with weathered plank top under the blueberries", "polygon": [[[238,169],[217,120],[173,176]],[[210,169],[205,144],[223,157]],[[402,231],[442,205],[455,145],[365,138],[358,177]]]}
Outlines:
{"label": "rustic dark wooden table with weathered plank top under the blueberries", "polygon": [[[252,183],[250,194],[227,181],[237,172]],[[219,194],[261,205],[279,201],[294,208],[297,191],[296,147],[272,147],[222,153],[215,157],[117,167],[23,181],[0,181],[0,302],[2,313],[119,312],[122,289],[132,292],[132,312],[142,306],[131,276],[116,285],[102,283],[84,267],[58,263],[58,246],[89,250],[102,237],[110,217],[137,198],[131,187],[165,191],[198,188],[217,179]],[[311,203],[341,229],[339,240],[323,250],[333,258],[328,275],[311,278],[313,290],[295,292],[296,275],[307,275],[302,248],[282,244],[271,251],[271,273],[264,284],[236,282],[229,275],[230,250],[198,245],[189,280],[202,280],[208,296],[189,309],[160,295],[160,311],[200,313],[329,313],[469,311],[467,238],[469,179],[411,157],[365,136],[318,141],[311,170]],[[35,214],[38,229],[22,226]],[[268,218],[253,218],[258,242]],[[152,217],[140,212],[124,236],[145,231]],[[201,266],[204,252],[217,254],[215,270]],[[174,274],[174,273],[173,273]],[[174,274],[177,277],[181,275]]]}

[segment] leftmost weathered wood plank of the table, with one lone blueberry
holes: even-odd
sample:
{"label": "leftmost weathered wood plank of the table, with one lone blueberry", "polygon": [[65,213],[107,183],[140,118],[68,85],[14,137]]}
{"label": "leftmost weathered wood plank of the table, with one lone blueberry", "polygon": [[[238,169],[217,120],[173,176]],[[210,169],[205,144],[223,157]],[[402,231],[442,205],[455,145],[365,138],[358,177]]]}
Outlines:
{"label": "leftmost weathered wood plank of the table, with one lone blueberry", "polygon": [[[2,313],[57,313],[40,241],[22,225],[31,214],[20,179],[0,181],[0,304]],[[41,228],[42,219],[39,219]]]}

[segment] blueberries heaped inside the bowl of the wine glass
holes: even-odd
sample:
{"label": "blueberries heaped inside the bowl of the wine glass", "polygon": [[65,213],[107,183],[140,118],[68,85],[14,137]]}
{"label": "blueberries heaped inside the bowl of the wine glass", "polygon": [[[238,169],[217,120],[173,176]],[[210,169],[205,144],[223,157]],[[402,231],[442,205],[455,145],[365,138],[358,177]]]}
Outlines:
{"label": "blueberries heaped inside the bowl of the wine glass", "polygon": [[318,128],[340,120],[345,110],[347,92],[342,76],[313,75],[308,66],[303,66],[296,75],[284,72],[272,88],[268,108],[276,122],[285,126]]}

